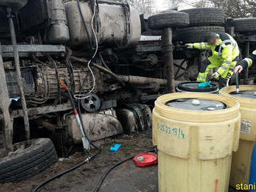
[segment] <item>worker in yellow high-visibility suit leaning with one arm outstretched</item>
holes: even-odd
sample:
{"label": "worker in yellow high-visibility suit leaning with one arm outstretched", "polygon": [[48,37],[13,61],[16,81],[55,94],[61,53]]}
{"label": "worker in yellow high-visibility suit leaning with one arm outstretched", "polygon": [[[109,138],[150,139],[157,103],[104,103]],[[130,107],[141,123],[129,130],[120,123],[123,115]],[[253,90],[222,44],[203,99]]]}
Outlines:
{"label": "worker in yellow high-visibility suit leaning with one arm outstretched", "polygon": [[207,37],[207,43],[188,43],[186,47],[212,51],[212,56],[202,61],[197,81],[206,82],[209,71],[219,67],[213,77],[219,80],[220,88],[228,86],[240,53],[237,42],[232,36],[227,33],[211,33]]}

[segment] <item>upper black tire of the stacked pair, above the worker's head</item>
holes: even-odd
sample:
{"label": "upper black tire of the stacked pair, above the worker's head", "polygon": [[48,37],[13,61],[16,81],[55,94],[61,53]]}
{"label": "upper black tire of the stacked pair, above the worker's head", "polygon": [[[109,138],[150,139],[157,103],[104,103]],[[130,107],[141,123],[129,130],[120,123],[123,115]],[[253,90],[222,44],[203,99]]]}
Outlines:
{"label": "upper black tire of the stacked pair, above the worker's head", "polygon": [[225,16],[222,9],[197,8],[185,9],[189,13],[189,26],[224,26]]}

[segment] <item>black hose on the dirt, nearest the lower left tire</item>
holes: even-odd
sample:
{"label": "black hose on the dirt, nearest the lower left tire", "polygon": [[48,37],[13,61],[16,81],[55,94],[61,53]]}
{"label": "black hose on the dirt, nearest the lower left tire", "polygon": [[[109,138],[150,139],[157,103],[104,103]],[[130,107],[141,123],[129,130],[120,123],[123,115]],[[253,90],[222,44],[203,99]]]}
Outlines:
{"label": "black hose on the dirt, nearest the lower left tire", "polygon": [[41,187],[43,187],[45,184],[49,183],[50,181],[55,180],[55,179],[57,179],[58,177],[61,177],[61,176],[63,176],[64,174],[69,173],[69,172],[71,172],[71,171],[73,171],[73,170],[75,170],[75,169],[78,169],[78,167],[84,165],[85,163],[88,163],[89,160],[92,160],[92,159],[94,159],[96,156],[98,156],[99,153],[100,153],[100,151],[99,151],[98,153],[96,153],[94,156],[92,156],[91,158],[88,157],[87,159],[85,159],[85,161],[79,163],[78,165],[73,166],[73,167],[71,167],[71,168],[68,169],[68,170],[65,170],[65,171],[63,171],[63,172],[61,172],[61,173],[58,173],[58,174],[55,175],[54,177],[50,177],[49,179],[43,181],[43,183],[40,183],[40,185],[37,186],[37,187],[33,190],[33,192],[36,192],[37,190],[39,190]]}

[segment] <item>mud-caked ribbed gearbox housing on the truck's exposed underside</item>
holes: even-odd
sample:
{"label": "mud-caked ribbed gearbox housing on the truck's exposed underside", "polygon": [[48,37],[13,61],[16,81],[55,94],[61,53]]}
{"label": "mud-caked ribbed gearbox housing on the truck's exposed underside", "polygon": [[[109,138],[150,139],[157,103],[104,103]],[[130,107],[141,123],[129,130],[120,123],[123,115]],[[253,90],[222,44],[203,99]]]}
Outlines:
{"label": "mud-caked ribbed gearbox housing on the truck's exposed underside", "polygon": [[[26,101],[42,104],[44,101],[49,99],[56,99],[58,94],[61,93],[62,98],[67,98],[65,90],[61,88],[59,90],[59,80],[65,78],[71,81],[69,77],[67,67],[58,67],[57,74],[53,67],[49,66],[50,63],[46,63],[45,66],[41,64],[35,64],[36,67],[25,67],[22,68],[22,79],[24,80],[24,93]],[[99,74],[99,70],[92,67],[95,78],[97,79],[95,84],[95,91],[102,91],[102,76]],[[5,74],[7,77],[7,85],[9,95],[12,98],[19,96],[19,87],[16,81],[16,70],[6,69]],[[85,67],[73,67],[73,78],[74,83],[71,88],[74,93],[78,94],[81,89],[81,84],[85,80],[82,93],[88,92],[93,86],[93,77],[88,68]],[[57,77],[58,76],[58,77]]]}

